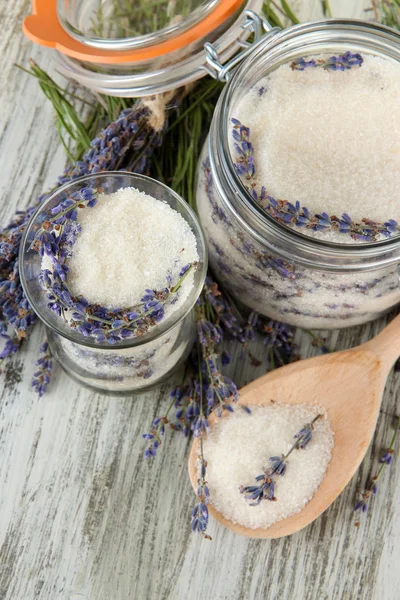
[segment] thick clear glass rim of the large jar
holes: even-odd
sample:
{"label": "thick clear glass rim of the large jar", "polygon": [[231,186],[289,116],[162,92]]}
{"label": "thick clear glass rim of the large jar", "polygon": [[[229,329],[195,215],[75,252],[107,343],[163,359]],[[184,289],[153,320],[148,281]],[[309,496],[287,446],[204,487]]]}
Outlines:
{"label": "thick clear glass rim of the large jar", "polygon": [[[345,38],[346,33],[348,39]],[[306,36],[309,36],[314,44],[330,43],[331,45],[351,41],[357,44],[361,43],[361,39],[364,38],[364,42],[369,42],[371,52],[373,52],[374,45],[380,50],[392,49],[396,51],[396,58],[400,61],[400,34],[390,27],[368,21],[327,19],[267,33],[257,44],[254,53],[240,64],[232,78],[229,79],[214,112],[210,130],[209,155],[213,175],[216,175],[216,184],[222,194],[225,186],[231,188],[230,208],[243,227],[253,236],[255,235],[261,243],[267,244],[287,259],[293,260],[293,244],[295,243],[298,251],[295,260],[314,268],[358,271],[368,270],[372,266],[383,267],[399,262],[400,235],[377,242],[340,244],[306,236],[300,231],[282,225],[256,203],[235,171],[228,142],[228,126],[232,104],[236,99],[235,92],[240,87],[241,79],[247,79],[254,75],[255,79],[252,81],[254,85],[265,73],[269,72],[266,69],[263,71],[263,75],[260,74],[260,63],[266,55],[273,51],[274,56],[279,56],[282,50],[290,53],[295,49],[292,45],[293,42],[300,38],[302,52],[298,52],[298,54],[308,54],[307,42],[304,39]],[[241,90],[241,94],[243,94],[243,90]],[[219,177],[221,181],[218,180]],[[268,231],[269,239],[263,235],[263,230]],[[287,249],[289,245],[292,246],[290,250]],[[397,252],[393,254],[393,251]],[[319,263],[318,267],[315,266],[315,262]]]}

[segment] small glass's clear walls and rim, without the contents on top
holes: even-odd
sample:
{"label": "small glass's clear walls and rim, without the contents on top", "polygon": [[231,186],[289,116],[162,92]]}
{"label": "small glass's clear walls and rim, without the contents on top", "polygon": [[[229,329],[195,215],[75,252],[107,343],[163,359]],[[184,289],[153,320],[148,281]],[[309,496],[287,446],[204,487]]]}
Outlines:
{"label": "small glass's clear walls and rim, without the contents on top", "polygon": [[[43,222],[51,218],[51,209],[85,187],[100,187],[107,194],[134,187],[166,202],[186,220],[197,242],[199,262],[193,287],[182,305],[141,337],[128,338],[114,345],[85,337],[48,307],[46,293],[39,283],[42,258],[31,247]],[[193,307],[203,288],[207,251],[196,215],[175,192],[158,181],[119,171],[81,177],[61,186],[32,216],[21,242],[19,261],[24,292],[46,325],[52,353],[64,370],[80,383],[112,393],[142,392],[162,383],[189,354],[195,328]],[[146,288],[145,284],[143,288]]]}

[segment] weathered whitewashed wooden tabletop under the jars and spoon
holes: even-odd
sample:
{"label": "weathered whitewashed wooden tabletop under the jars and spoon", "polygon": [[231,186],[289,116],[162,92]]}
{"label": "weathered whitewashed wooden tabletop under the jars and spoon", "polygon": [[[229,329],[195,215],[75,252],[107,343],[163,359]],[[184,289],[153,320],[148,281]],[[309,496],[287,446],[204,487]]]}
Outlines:
{"label": "weathered whitewashed wooden tabletop under the jars and spoon", "polygon": [[[332,1],[339,16],[364,15],[369,1]],[[21,32],[30,2],[0,2],[1,223],[28,206],[61,172],[65,156],[52,107],[14,63],[51,52]],[[320,3],[292,3],[302,19]],[[385,320],[332,332],[332,348],[367,340]],[[400,598],[400,465],[384,473],[373,510],[353,526],[352,506],[388,443],[399,391],[389,378],[377,433],[340,498],[290,538],[237,537],[211,521],[212,542],[189,531],[194,502],[189,441],[168,435],[153,464],[141,433],[163,410],[169,385],[136,397],[93,393],[57,370],[49,393],[30,389],[41,326],[3,366],[0,396],[0,600],[355,600]],[[315,349],[298,333],[302,357]],[[261,351],[261,350],[260,350]],[[261,375],[234,357],[245,382]],[[397,462],[397,461],[396,461]]]}

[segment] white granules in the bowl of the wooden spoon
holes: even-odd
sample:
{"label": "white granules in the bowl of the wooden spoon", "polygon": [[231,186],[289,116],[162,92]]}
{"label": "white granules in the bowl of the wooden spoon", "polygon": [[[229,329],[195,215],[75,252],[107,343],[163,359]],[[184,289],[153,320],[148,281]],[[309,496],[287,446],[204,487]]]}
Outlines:
{"label": "white granules in the bowl of the wooden spoon", "polygon": [[[276,477],[275,502],[262,500],[250,506],[240,494],[241,485],[254,485],[254,478],[270,466],[269,458],[286,454],[294,435],[317,414],[311,442],[294,450],[283,476]],[[240,409],[213,426],[204,441],[210,500],[227,519],[252,529],[267,528],[304,508],[325,476],[331,460],[333,433],[323,408],[310,405],[252,407],[248,415]]]}

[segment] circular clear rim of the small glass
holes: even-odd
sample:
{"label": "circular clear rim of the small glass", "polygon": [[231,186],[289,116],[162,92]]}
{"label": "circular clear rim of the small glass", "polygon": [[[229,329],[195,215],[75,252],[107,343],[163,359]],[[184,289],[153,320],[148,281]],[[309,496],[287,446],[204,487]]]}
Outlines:
{"label": "circular clear rim of the small glass", "polygon": [[[31,232],[31,229],[33,227],[33,224],[34,224],[36,218],[40,215],[40,213],[43,211],[43,209],[50,202],[52,202],[60,193],[68,192],[68,189],[73,188],[73,186],[76,184],[90,182],[91,180],[95,180],[95,179],[97,179],[97,180],[102,179],[103,177],[105,178],[105,177],[115,177],[115,176],[125,176],[125,177],[132,178],[132,180],[133,180],[132,183],[134,181],[136,181],[136,182],[142,181],[145,183],[151,182],[152,184],[156,184],[160,188],[163,188],[164,190],[166,190],[168,192],[168,194],[174,198],[174,200],[177,202],[179,207],[181,209],[183,209],[183,212],[186,213],[190,217],[190,219],[191,219],[190,227],[192,230],[195,227],[195,230],[193,230],[193,233],[196,236],[197,243],[201,244],[201,248],[198,248],[199,256],[200,257],[203,256],[203,258],[199,261],[198,267],[195,271],[195,277],[197,275],[197,284],[195,281],[193,289],[190,290],[189,296],[186,298],[183,305],[176,311],[176,314],[173,313],[170,317],[165,319],[164,323],[161,322],[159,325],[154,326],[152,329],[150,329],[150,331],[148,333],[145,333],[144,335],[142,335],[140,337],[128,338],[126,340],[118,342],[117,344],[106,344],[106,343],[95,342],[91,338],[82,336],[81,334],[79,334],[79,340],[78,340],[77,339],[78,335],[76,332],[73,332],[74,330],[71,329],[71,334],[69,334],[68,329],[66,327],[63,328],[61,326],[61,324],[58,325],[58,320],[56,320],[55,323],[50,322],[50,320],[47,318],[46,313],[42,310],[42,308],[40,306],[38,306],[37,302],[35,301],[32,294],[30,293],[29,284],[28,284],[25,269],[24,269],[24,264],[25,264],[25,253],[26,253],[25,246],[27,245],[29,233]],[[82,177],[77,177],[76,179],[73,179],[72,181],[64,183],[63,185],[58,187],[47,198],[45,198],[43,200],[43,202],[40,203],[38,208],[32,214],[31,218],[29,219],[28,225],[25,228],[25,231],[23,232],[23,235],[21,238],[20,249],[19,249],[19,273],[20,273],[22,288],[23,288],[24,293],[29,301],[29,304],[32,306],[32,308],[34,309],[37,316],[52,331],[55,331],[57,334],[68,339],[69,341],[78,343],[78,344],[80,344],[82,346],[86,346],[88,348],[96,348],[98,350],[112,351],[112,350],[122,350],[122,349],[126,349],[126,348],[139,347],[139,346],[142,346],[144,344],[147,344],[149,342],[156,340],[157,338],[161,337],[162,335],[167,334],[169,331],[171,331],[173,328],[175,328],[191,312],[194,305],[196,304],[197,299],[199,298],[201,291],[203,289],[204,281],[205,281],[206,274],[207,274],[207,267],[208,267],[207,245],[205,242],[203,230],[199,224],[197,215],[194,212],[194,210],[189,206],[189,204],[185,200],[183,200],[183,198],[181,198],[176,192],[174,192],[174,190],[169,188],[164,183],[161,183],[160,181],[157,181],[156,179],[153,179],[152,177],[148,177],[146,175],[140,175],[137,173],[131,173],[130,171],[103,171],[103,172],[99,172],[99,173],[92,173],[90,175],[84,175]]]}

